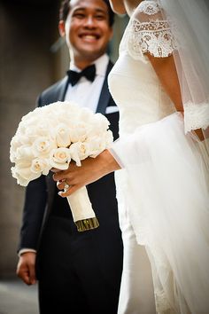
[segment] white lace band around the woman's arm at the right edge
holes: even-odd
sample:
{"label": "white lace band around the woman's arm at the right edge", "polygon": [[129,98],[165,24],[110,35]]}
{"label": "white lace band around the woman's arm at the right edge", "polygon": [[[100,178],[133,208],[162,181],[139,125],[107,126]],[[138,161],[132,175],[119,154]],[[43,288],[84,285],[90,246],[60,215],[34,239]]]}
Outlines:
{"label": "white lace band around the woman's arm at the right edge", "polygon": [[209,101],[202,104],[188,102],[184,105],[184,130],[204,129],[209,126]]}

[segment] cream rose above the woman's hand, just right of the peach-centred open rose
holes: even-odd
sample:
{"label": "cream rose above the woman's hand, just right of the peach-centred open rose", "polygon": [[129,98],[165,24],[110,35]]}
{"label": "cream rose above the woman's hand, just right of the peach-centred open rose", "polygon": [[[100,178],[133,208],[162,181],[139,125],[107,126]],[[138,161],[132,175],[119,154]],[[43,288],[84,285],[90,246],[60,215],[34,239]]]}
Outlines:
{"label": "cream rose above the woman's hand, just right of the peach-centred open rose", "polygon": [[89,143],[77,142],[70,145],[71,158],[76,162],[77,166],[81,166],[81,161],[89,157]]}

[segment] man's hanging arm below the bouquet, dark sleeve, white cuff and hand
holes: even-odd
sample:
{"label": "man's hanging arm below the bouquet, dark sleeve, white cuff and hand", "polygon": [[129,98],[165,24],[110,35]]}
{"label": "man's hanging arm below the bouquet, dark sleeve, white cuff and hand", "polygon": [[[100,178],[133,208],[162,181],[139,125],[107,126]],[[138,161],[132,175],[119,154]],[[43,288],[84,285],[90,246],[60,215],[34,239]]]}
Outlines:
{"label": "man's hanging arm below the bouquet, dark sleeve, white cuff and hand", "polygon": [[27,185],[19,239],[17,275],[27,285],[35,284],[36,249],[40,238],[47,192],[45,177]]}

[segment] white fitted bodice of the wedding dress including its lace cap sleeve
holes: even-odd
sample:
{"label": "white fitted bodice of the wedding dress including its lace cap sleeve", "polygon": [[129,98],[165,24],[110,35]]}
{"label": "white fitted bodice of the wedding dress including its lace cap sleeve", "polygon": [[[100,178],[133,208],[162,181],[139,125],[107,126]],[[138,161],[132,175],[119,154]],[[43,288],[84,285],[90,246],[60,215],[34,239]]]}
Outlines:
{"label": "white fitted bodice of the wedding dress including its lace cap sleeve", "polygon": [[144,55],[170,55],[176,44],[156,1],[143,1],[129,20],[120,43],[120,57],[109,75],[112,97],[120,107],[120,134],[156,122],[174,112],[150,62]]}

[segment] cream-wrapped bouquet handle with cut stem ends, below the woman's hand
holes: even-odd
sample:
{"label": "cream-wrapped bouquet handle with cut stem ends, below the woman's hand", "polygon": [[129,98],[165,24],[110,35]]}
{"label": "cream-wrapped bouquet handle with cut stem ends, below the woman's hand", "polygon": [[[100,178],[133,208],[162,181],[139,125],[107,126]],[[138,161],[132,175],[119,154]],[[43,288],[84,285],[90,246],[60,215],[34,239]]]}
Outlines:
{"label": "cream-wrapped bouquet handle with cut stem ends, below the woman's hand", "polygon": [[67,196],[66,199],[70,205],[78,232],[85,232],[99,226],[86,186]]}

